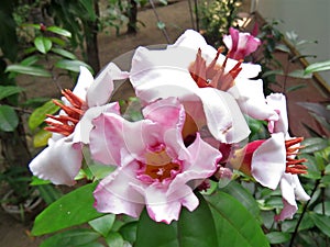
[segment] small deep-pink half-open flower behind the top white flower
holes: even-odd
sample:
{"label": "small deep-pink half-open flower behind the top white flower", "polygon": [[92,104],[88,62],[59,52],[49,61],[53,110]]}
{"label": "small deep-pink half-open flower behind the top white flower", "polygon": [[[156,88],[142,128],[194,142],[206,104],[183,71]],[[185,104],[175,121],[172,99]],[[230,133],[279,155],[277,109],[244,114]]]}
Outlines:
{"label": "small deep-pink half-open flower behind the top white flower", "polygon": [[261,45],[261,41],[250,33],[241,33],[233,27],[229,29],[229,33],[230,35],[224,35],[222,40],[229,49],[229,58],[244,60],[246,56],[255,52]]}

